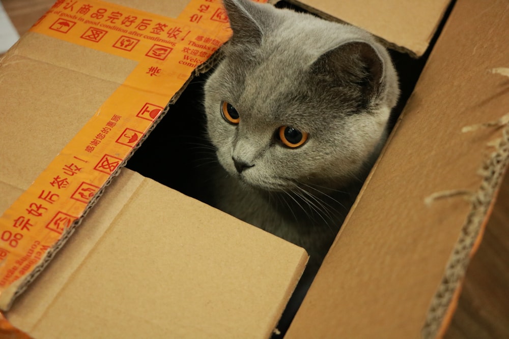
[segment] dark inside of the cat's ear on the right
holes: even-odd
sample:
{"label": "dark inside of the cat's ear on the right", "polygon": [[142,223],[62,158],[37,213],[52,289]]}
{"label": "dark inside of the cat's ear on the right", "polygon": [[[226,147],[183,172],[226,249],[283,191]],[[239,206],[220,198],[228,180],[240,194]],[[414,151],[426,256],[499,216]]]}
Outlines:
{"label": "dark inside of the cat's ear on the right", "polygon": [[367,99],[383,89],[384,61],[369,43],[354,41],[322,54],[313,64],[314,72],[340,86],[354,85]]}

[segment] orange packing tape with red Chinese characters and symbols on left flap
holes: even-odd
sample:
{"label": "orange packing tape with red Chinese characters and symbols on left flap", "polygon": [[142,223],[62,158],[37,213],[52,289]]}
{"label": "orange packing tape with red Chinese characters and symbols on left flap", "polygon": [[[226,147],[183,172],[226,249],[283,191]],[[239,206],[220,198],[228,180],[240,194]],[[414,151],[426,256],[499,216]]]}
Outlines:
{"label": "orange packing tape with red Chinese characters and symbols on left flap", "polygon": [[122,166],[168,100],[228,40],[219,0],[167,18],[100,0],[57,1],[32,32],[138,61],[137,67],[0,218],[0,309],[9,309]]}

